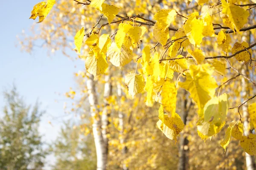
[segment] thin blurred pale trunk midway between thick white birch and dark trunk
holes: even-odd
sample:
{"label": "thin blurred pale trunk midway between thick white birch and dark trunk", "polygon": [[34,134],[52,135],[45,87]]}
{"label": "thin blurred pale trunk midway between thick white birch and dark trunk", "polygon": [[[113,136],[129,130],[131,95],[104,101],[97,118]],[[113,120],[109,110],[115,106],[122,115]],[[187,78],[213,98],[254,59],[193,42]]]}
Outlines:
{"label": "thin blurred pale trunk midway between thick white birch and dark trunk", "polygon": [[[121,100],[122,97],[122,88],[120,83],[117,84],[117,96],[119,97],[119,101]],[[119,102],[119,106],[121,105],[121,103]],[[120,144],[124,144],[125,143],[125,138],[124,138],[124,114],[122,113],[121,109],[119,108],[118,111],[118,117],[119,117],[119,134],[120,134]],[[127,153],[127,147],[123,147],[122,148],[122,155],[125,157]],[[128,167],[126,167],[126,164],[122,164],[122,169],[123,170],[128,170]]]}

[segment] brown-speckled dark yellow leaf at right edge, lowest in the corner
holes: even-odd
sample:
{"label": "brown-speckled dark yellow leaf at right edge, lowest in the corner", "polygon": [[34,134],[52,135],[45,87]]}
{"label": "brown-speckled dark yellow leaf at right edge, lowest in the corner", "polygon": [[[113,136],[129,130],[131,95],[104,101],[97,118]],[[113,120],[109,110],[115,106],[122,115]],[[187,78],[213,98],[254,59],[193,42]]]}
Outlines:
{"label": "brown-speckled dark yellow leaf at right edge, lowest in the corner", "polygon": [[240,145],[249,155],[256,155],[256,135],[250,133],[249,136],[242,136]]}

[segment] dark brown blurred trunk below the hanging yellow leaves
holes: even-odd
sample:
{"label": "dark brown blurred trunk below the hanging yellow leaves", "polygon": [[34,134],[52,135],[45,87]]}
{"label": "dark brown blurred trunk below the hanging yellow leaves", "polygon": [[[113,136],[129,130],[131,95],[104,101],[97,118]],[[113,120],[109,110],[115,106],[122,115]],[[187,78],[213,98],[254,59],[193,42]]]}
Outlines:
{"label": "dark brown blurred trunk below the hanging yellow leaves", "polygon": [[[187,92],[186,90],[182,91],[183,94],[181,95],[181,106],[180,106],[180,118],[182,119],[184,125],[186,125],[187,116],[189,113],[188,109],[188,99],[187,99]],[[190,105],[190,104],[189,104]],[[183,132],[180,133],[180,146],[179,146],[179,163],[178,163],[178,170],[186,170],[188,169],[188,147],[189,140],[187,136]]]}

